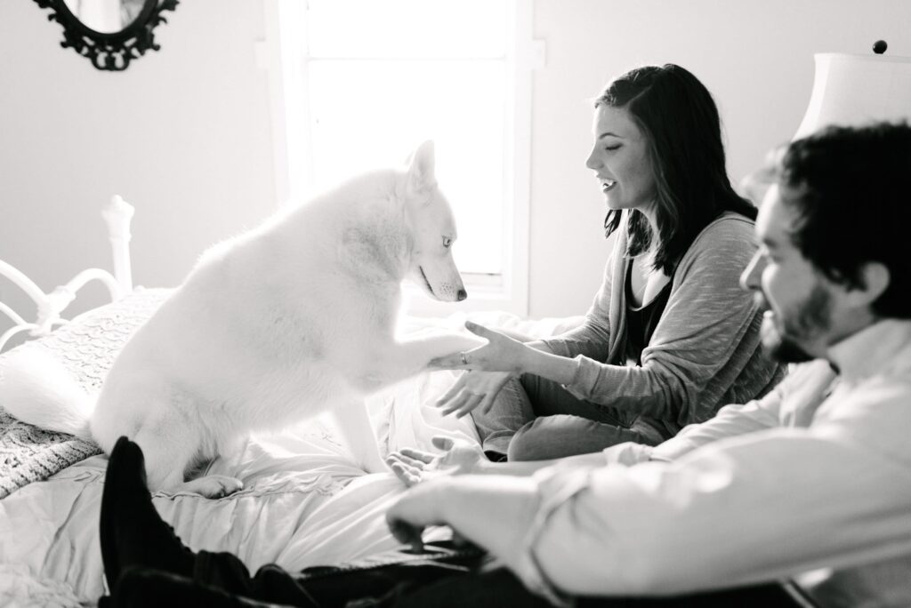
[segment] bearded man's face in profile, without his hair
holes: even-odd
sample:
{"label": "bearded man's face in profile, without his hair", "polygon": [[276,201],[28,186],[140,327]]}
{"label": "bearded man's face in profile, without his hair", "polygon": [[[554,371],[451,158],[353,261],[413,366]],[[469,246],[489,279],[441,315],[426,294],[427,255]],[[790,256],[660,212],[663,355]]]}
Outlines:
{"label": "bearded man's face in profile, without his hair", "polygon": [[756,218],[759,250],[743,271],[741,284],[766,309],[763,347],[778,360],[824,357],[831,341],[835,289],[794,247],[788,228],[796,219],[782,200],[793,191],[769,188]]}

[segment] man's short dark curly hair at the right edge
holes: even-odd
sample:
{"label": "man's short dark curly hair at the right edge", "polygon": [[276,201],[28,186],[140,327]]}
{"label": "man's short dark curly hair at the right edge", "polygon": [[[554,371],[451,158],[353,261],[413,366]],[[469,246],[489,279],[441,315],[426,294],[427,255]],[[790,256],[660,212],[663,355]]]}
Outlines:
{"label": "man's short dark curly hair at the right edge", "polygon": [[782,201],[796,215],[791,240],[815,269],[848,288],[864,286],[868,262],[889,270],[871,307],[880,317],[911,319],[908,176],[906,123],[825,128],[793,141],[778,166]]}

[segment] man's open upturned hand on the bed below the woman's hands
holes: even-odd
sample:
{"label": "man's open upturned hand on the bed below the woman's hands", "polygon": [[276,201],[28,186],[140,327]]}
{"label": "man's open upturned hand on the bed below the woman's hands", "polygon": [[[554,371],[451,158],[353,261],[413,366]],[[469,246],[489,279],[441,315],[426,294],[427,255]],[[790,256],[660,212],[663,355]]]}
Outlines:
{"label": "man's open upturned hand on the bed below the woman's hands", "polygon": [[478,472],[481,463],[486,460],[481,447],[470,441],[437,435],[431,442],[435,448],[444,452],[433,454],[429,451],[404,448],[392,452],[386,459],[389,468],[406,487],[410,488],[421,481],[445,475]]}

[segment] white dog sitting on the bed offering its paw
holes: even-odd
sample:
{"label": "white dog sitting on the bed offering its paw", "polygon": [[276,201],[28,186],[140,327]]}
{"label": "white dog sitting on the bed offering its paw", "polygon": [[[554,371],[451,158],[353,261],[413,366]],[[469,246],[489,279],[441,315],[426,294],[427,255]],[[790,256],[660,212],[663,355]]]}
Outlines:
{"label": "white dog sitting on the bed offering its paw", "polygon": [[237,491],[233,478],[185,474],[250,431],[279,431],[328,408],[359,464],[382,470],[363,397],[482,343],[395,337],[406,276],[436,299],[466,298],[455,236],[426,142],[404,172],[355,177],[206,251],[118,355],[97,404],[73,380],[47,378],[29,360],[40,351],[20,349],[0,370],[5,407],[108,453],[127,435],[145,452],[153,491]]}

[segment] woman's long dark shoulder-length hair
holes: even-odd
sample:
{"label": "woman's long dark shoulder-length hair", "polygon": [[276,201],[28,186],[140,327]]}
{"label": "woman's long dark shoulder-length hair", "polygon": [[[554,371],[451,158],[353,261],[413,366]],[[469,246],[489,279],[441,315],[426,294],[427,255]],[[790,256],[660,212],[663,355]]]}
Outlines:
{"label": "woman's long dark shoulder-length hair", "polygon": [[[670,274],[702,228],[724,211],[751,219],[756,208],[731,185],[724,162],[722,124],[708,89],[681,66],[643,66],[611,82],[595,107],[625,108],[648,142],[655,174],[656,223],[654,269]],[[611,209],[605,236],[620,227],[622,212]],[[649,221],[630,213],[626,254],[652,245]]]}

